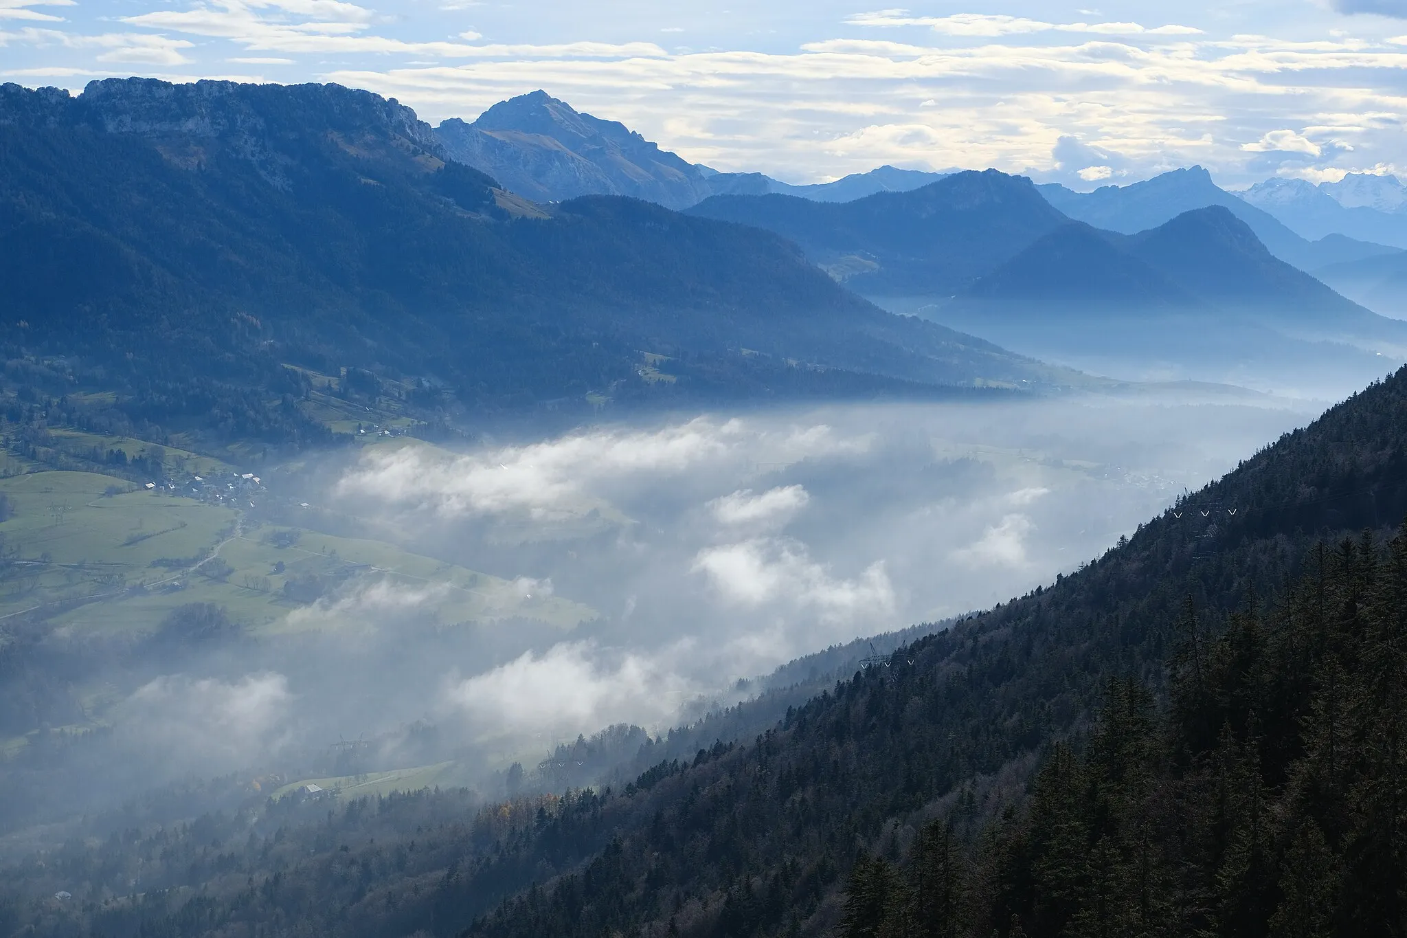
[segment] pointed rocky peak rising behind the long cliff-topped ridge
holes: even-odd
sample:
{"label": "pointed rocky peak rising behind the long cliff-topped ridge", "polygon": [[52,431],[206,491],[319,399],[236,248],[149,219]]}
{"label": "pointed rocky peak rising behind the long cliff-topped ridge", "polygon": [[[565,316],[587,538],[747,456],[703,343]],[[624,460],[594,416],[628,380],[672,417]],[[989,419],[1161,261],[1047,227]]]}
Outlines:
{"label": "pointed rocky peak rising behind the long cliff-topped ridge", "polygon": [[533,201],[632,195],[684,208],[713,191],[711,170],[546,91],[501,101],[473,124],[447,120],[435,132],[453,159]]}

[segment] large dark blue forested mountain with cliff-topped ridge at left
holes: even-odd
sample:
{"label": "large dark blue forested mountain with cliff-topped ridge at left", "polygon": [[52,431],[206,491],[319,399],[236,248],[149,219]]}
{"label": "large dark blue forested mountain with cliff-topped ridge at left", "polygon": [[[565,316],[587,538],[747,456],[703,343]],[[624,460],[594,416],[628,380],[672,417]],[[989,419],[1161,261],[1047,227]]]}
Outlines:
{"label": "large dark blue forested mountain with cliff-topped ridge at left", "polygon": [[884,314],[767,232],[609,197],[546,212],[446,162],[409,108],[338,86],[4,86],[0,276],[0,346],[58,360],[52,394],[197,419],[193,388],[245,390],[276,439],[298,433],[284,364],[487,411],[1040,371]]}

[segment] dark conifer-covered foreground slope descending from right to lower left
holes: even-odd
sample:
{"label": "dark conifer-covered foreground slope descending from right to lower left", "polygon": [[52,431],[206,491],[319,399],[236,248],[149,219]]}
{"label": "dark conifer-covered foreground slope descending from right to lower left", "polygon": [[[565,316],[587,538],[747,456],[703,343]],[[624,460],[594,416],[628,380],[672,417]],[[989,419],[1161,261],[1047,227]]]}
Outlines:
{"label": "dark conifer-covered foreground slope descending from right to lower left", "polygon": [[[297,862],[234,827],[228,847],[165,848],[191,856],[182,878],[205,883],[198,894],[103,906],[98,890],[82,911],[24,903],[14,915],[37,934],[298,923],[300,934],[722,938],[839,924],[1054,938],[1266,934],[1303,903],[1324,925],[1306,934],[1392,934],[1407,830],[1390,793],[1404,766],[1382,727],[1407,700],[1407,548],[1376,560],[1355,532],[1404,513],[1400,371],[1078,572],[902,648],[750,745],[473,821],[450,811],[426,824],[411,802],[349,806]],[[1344,537],[1355,543],[1314,547]],[[1332,713],[1345,714],[1348,751],[1324,748]],[[1335,803],[1346,810],[1324,816]],[[388,841],[397,811],[405,833]],[[288,858],[277,873],[273,855]]]}

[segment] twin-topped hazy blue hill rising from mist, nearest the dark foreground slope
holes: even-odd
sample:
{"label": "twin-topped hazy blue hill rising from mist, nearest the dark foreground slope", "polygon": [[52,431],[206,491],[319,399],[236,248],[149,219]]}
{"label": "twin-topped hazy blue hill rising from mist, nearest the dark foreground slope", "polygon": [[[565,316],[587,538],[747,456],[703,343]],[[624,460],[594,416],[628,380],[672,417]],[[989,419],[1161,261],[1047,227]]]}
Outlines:
{"label": "twin-topped hazy blue hill rising from mist, nearest the dark foreground slope", "polygon": [[1407,357],[1407,323],[1279,260],[1220,205],[1137,235],[1069,222],[924,315],[1123,377],[1311,395]]}

